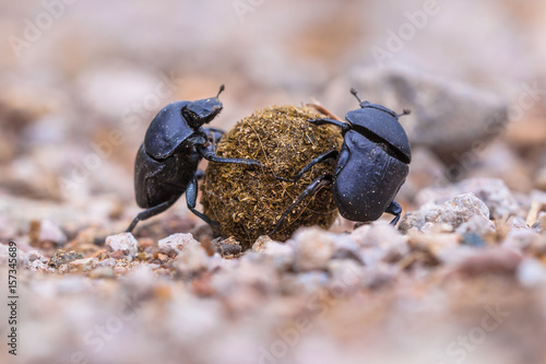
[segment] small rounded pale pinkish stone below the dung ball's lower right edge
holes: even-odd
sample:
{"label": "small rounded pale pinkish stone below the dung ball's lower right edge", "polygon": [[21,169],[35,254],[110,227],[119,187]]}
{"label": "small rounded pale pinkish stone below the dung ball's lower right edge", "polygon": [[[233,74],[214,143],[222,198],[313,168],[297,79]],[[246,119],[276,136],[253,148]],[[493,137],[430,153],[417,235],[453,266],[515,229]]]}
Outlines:
{"label": "small rounded pale pinkish stone below the dung ball's lower right edge", "polygon": [[330,234],[319,227],[300,228],[287,244],[295,249],[297,271],[327,269],[335,251]]}

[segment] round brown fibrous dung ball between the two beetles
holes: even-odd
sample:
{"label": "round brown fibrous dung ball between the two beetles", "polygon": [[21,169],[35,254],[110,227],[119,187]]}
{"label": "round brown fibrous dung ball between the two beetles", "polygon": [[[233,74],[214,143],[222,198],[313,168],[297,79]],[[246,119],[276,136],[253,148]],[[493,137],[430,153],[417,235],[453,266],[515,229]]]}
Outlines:
{"label": "round brown fibrous dung ball between the two beetles", "polygon": [[[334,161],[319,163],[298,181],[293,178],[314,157],[340,150],[339,129],[313,126],[308,119],[325,117],[310,107],[273,106],[240,120],[216,145],[223,157],[252,158],[263,167],[210,163],[202,186],[204,213],[219,223],[222,235],[234,236],[245,248],[270,233],[292,202],[323,174],[332,174]],[[305,199],[272,235],[286,240],[300,226],[328,228],[337,215],[330,186]]]}

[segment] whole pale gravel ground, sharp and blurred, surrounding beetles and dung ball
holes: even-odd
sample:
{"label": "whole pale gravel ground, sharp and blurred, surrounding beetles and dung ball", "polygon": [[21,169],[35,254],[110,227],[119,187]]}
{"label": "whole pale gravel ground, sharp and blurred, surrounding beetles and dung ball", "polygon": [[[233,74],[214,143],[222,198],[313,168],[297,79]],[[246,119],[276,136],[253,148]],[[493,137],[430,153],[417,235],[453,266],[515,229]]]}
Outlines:
{"label": "whole pale gravel ground, sharp and blurred, surrounding beetles and dung ball", "polygon": [[[0,362],[545,363],[545,8],[0,2]],[[121,233],[150,120],[219,84],[226,130],[351,87],[412,109],[399,225],[245,250],[181,198]]]}

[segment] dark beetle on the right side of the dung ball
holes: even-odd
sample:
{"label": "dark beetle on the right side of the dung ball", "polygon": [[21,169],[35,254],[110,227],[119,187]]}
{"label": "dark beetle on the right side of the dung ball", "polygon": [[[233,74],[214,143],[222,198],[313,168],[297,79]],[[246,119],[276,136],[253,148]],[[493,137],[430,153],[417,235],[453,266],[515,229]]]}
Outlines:
{"label": "dark beetle on the right side of the dung ball", "polygon": [[351,221],[378,220],[383,212],[394,215],[395,225],[402,208],[394,198],[410,172],[412,151],[399,117],[402,114],[369,102],[363,102],[355,89],[351,93],[358,99],[360,108],[345,115],[347,122],[323,118],[311,119],[316,126],[332,125],[341,129],[343,145],[341,151],[329,151],[307,164],[294,178],[277,177],[285,181],[296,181],[317,163],[335,158],[333,174],[314,179],[283,212],[275,228],[278,231],[292,210],[306,197],[313,196],[321,187],[332,184],[333,197],[340,214]]}

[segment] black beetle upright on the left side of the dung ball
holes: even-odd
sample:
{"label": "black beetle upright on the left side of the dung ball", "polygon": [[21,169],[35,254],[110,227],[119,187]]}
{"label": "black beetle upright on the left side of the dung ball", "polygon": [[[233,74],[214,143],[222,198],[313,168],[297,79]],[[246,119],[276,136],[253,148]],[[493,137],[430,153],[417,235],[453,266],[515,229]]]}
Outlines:
{"label": "black beetle upright on the left side of the dung ball", "polygon": [[217,225],[195,210],[198,178],[202,176],[198,171],[201,158],[216,163],[260,165],[254,160],[217,156],[215,143],[223,132],[202,127],[222,110],[218,96],[224,90],[222,85],[215,97],[169,104],[154,117],[134,162],[136,203],[146,210],[133,219],[126,232],[132,232],[139,221],[167,210],[183,192],[191,212],[207,224]]}

